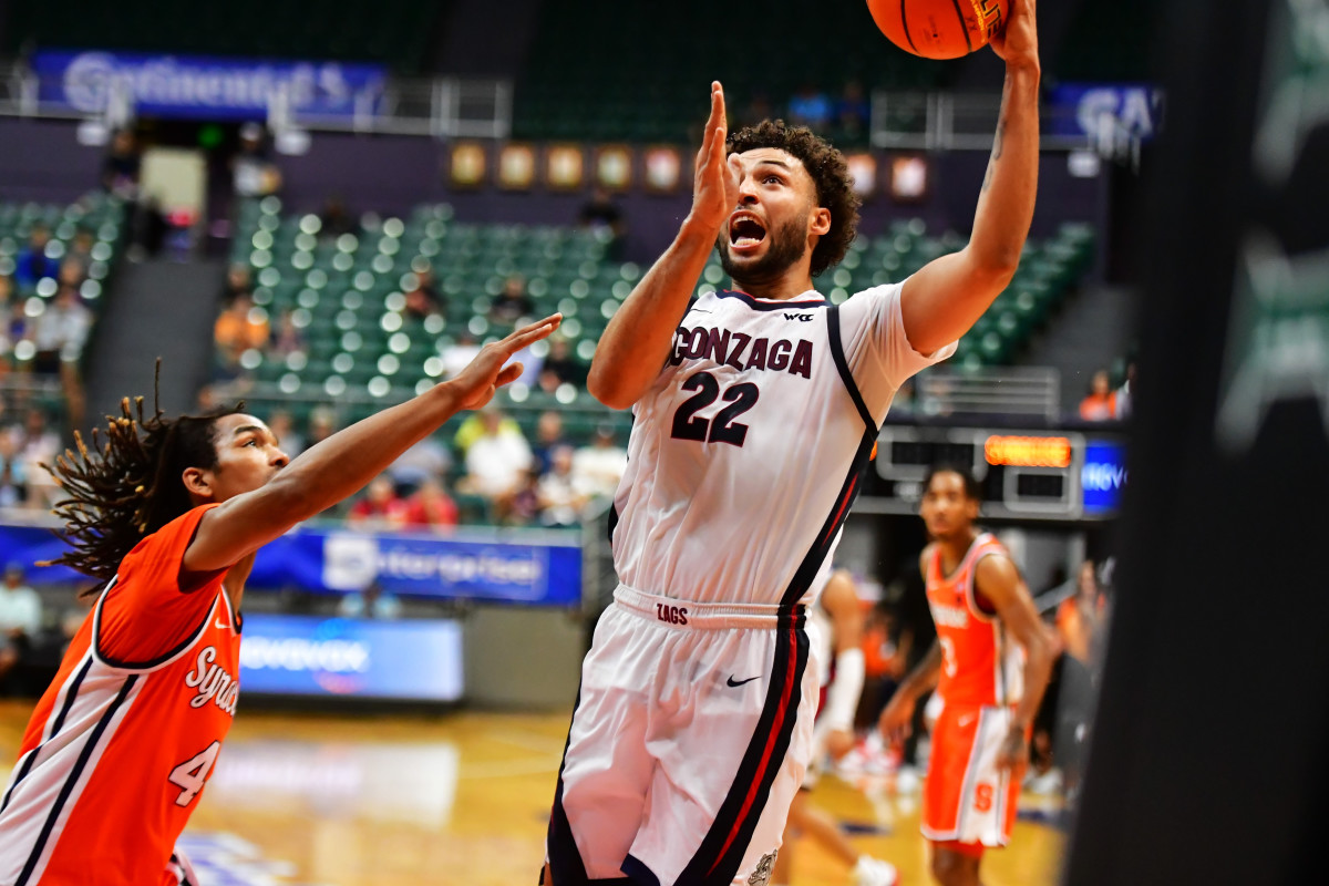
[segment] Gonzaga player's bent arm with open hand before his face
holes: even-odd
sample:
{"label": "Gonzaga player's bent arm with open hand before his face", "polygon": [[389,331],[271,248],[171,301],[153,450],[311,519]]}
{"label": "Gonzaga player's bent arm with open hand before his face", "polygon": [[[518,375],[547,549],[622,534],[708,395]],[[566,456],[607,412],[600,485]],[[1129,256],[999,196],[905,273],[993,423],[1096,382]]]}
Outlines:
{"label": "Gonzaga player's bent arm with open hand before his face", "polygon": [[724,90],[712,82],[711,117],[696,151],[692,211],[595,347],[586,389],[606,406],[631,406],[659,375],[715,238],[738,205],[738,177],[728,163],[726,135]]}

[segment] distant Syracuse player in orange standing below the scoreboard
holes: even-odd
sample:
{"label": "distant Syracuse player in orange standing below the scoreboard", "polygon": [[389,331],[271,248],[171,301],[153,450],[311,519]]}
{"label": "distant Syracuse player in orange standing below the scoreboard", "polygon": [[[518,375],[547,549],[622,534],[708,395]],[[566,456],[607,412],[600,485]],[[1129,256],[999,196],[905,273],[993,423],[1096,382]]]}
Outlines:
{"label": "distant Syracuse player in orange standing below the scoreboard", "polygon": [[1010,840],[1030,724],[1057,651],[1006,549],[974,527],[978,503],[978,484],[962,469],[934,468],[924,482],[932,543],[920,566],[937,643],[880,721],[888,737],[904,737],[920,695],[936,684],[945,699],[922,814],[942,886],[977,886],[983,849]]}

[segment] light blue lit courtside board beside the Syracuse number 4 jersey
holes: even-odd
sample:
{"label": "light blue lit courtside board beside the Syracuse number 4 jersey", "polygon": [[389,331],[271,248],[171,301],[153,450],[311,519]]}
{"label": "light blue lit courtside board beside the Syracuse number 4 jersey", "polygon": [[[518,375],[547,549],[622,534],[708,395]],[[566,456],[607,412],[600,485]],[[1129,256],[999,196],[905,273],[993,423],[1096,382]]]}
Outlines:
{"label": "light blue lit courtside board beside the Syracuse number 4 jersey", "polygon": [[243,627],[241,704],[256,693],[424,701],[462,693],[460,622],[254,612]]}

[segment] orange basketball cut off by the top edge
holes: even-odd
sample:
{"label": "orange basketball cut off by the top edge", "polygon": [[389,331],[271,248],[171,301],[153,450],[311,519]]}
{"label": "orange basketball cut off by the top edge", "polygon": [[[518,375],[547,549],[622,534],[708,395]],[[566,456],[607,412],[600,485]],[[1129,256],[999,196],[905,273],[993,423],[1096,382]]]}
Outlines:
{"label": "orange basketball cut off by the top edge", "polygon": [[890,43],[924,58],[960,58],[1006,24],[1009,0],[868,0]]}

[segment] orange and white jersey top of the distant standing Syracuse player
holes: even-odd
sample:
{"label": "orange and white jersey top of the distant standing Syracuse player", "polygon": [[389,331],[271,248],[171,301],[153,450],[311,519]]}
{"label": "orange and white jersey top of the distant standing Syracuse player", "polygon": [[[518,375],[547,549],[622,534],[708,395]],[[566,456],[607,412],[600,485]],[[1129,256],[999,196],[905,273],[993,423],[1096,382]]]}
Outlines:
{"label": "orange and white jersey top of the distant standing Syracuse player", "polygon": [[928,561],[928,607],[942,652],[937,692],[948,705],[1015,704],[1023,691],[1023,650],[1006,636],[997,614],[979,606],[974,588],[978,562],[993,554],[1009,557],[983,533],[950,575],[942,575],[940,547]]}

